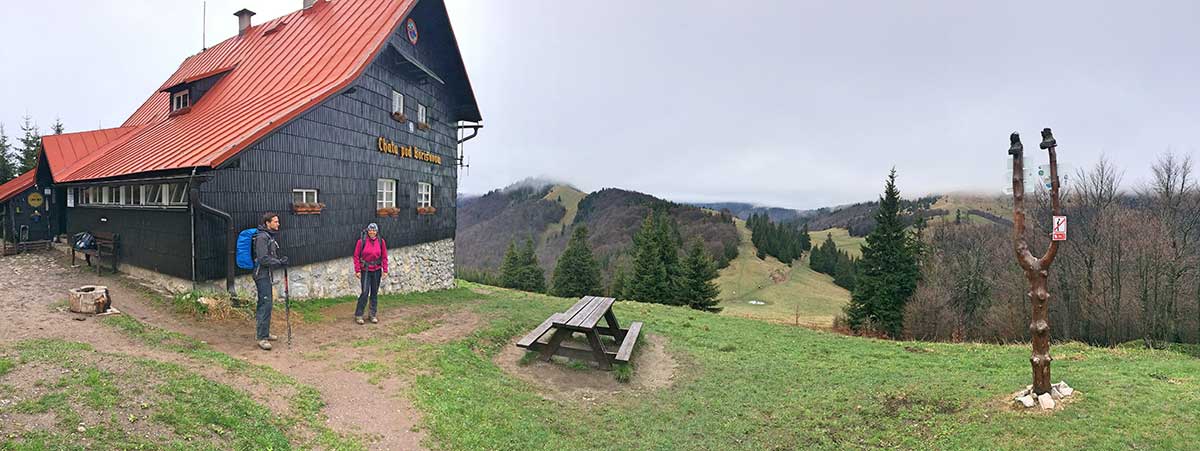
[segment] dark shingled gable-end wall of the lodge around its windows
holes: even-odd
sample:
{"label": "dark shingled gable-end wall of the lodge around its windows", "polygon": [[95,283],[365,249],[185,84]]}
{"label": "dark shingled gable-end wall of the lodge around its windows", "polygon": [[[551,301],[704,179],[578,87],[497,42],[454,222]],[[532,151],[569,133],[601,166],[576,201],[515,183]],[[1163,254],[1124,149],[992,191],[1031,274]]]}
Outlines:
{"label": "dark shingled gable-end wall of the lodge around its windows", "polygon": [[[392,35],[392,44],[412,47],[402,30],[403,23]],[[449,29],[422,28],[416,47],[431,49],[410,58],[428,67],[449,67],[434,59],[449,42],[446,36]],[[392,67],[388,58],[395,56],[394,52],[390,56],[382,52],[352,84],[353,92],[335,95],[252,145],[235,164],[216,170],[216,176],[200,186],[203,202],[233,215],[239,230],[254,227],[265,211],[280,214],[281,252],[293,265],[350,255],[354,241],[371,222],[379,224],[391,247],[454,237],[458,186],[456,132],[448,120],[455,102],[452,90],[434,80],[421,84],[402,78],[388,68]],[[392,89],[404,95],[410,120],[416,120],[418,102],[428,108],[432,130],[409,132],[408,124],[391,119]],[[379,137],[437,154],[442,164],[382,154],[377,150]],[[376,216],[378,179],[397,181],[400,217]],[[433,185],[437,214],[416,215],[418,182]],[[317,190],[325,210],[320,215],[293,215],[295,188]],[[223,276],[224,243],[221,222],[198,215],[200,278]]]}

